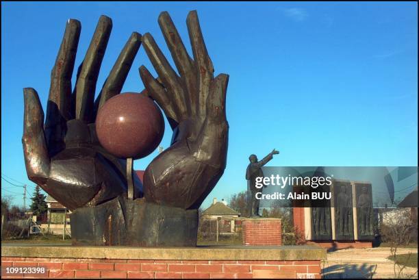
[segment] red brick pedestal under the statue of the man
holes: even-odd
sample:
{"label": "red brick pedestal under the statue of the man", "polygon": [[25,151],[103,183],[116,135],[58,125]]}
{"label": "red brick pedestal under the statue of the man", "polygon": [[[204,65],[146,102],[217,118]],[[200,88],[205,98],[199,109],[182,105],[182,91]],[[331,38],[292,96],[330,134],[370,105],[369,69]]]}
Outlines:
{"label": "red brick pedestal under the statue of the man", "polygon": [[281,219],[248,218],[243,220],[243,244],[255,246],[281,245]]}

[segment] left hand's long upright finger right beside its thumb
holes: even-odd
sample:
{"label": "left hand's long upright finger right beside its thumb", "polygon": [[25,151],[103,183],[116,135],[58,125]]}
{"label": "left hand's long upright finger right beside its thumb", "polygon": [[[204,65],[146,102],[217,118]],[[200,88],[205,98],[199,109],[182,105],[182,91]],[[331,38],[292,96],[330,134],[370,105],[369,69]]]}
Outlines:
{"label": "left hand's long upright finger right beside its thumb", "polygon": [[73,75],[81,24],[68,20],[66,31],[51,71],[51,86],[45,120],[45,134],[51,152],[64,149],[66,120],[71,118],[71,76]]}

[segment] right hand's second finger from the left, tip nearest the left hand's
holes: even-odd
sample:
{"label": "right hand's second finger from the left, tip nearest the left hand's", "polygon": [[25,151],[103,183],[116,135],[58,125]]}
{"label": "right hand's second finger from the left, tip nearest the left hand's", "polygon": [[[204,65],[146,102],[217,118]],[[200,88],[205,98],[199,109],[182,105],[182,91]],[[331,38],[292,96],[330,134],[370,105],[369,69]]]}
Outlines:
{"label": "right hand's second finger from the left, tip nearest the left hand's", "polygon": [[151,64],[153,64],[155,71],[160,79],[162,79],[164,87],[167,88],[168,92],[173,94],[173,96],[168,98],[173,99],[173,107],[176,110],[176,115],[179,118],[186,118],[190,108],[188,105],[189,103],[186,102],[186,96],[183,89],[179,84],[179,76],[177,76],[170,66],[151,34],[146,33],[142,36],[142,44],[149,56]]}

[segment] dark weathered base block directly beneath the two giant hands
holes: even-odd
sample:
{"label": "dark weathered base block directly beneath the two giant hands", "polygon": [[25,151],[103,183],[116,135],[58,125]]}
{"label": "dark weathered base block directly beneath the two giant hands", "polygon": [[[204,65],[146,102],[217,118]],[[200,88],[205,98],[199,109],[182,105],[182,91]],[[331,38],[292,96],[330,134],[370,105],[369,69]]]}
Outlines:
{"label": "dark weathered base block directly beneath the two giant hands", "polygon": [[71,214],[75,246],[196,246],[198,211],[117,197]]}

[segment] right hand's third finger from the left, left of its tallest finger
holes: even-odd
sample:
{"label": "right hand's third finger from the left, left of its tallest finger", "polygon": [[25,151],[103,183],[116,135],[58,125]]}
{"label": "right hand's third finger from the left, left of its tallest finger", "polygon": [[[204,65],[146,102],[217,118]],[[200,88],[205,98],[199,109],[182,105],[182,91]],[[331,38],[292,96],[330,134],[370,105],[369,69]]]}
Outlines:
{"label": "right hand's third finger from the left, left of its tallest finger", "polygon": [[162,29],[164,40],[166,40],[168,49],[175,61],[176,68],[181,75],[181,79],[185,82],[184,84],[187,90],[187,92],[185,92],[185,94],[187,94],[186,98],[190,100],[190,104],[195,105],[191,106],[192,114],[194,114],[198,109],[198,97],[194,94],[194,92],[196,92],[196,79],[194,76],[193,61],[188,55],[185,45],[179,36],[179,32],[173,24],[172,18],[170,18],[168,12],[162,12],[160,14],[159,25],[160,29]]}

